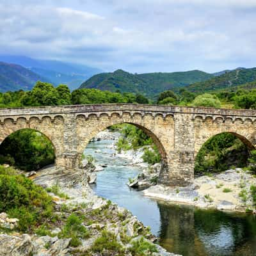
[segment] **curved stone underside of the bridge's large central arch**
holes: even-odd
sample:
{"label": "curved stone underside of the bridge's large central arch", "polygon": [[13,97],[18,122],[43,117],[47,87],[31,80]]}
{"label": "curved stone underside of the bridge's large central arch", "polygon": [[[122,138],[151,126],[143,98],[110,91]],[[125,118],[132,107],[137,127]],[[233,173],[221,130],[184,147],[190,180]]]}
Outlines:
{"label": "curved stone underside of the bridge's large central arch", "polygon": [[[100,129],[99,131],[95,132],[95,134],[92,134],[90,136],[90,138],[88,139],[88,142],[84,145],[83,150],[87,147],[88,143],[90,143],[90,141],[97,135],[99,134],[99,132],[105,131],[106,129],[109,129],[109,127],[113,126],[113,125],[121,125],[121,124],[129,124],[129,125],[133,125],[135,127],[138,127],[139,129],[141,129],[143,132],[145,132],[145,134],[147,134],[147,136],[149,136],[150,138],[152,138],[154,144],[157,147],[157,150],[159,151],[159,154],[161,155],[161,172],[163,172],[164,170],[168,169],[168,162],[167,162],[167,154],[166,154],[166,150],[164,149],[163,144],[161,143],[161,141],[159,140],[159,138],[157,138],[156,134],[154,134],[154,132],[150,131],[149,129],[147,129],[146,127],[144,127],[143,125],[140,124],[136,124],[133,122],[116,122],[115,124],[112,125],[108,125],[106,127],[104,127],[103,129]],[[81,154],[82,156],[82,154]],[[81,161],[79,161],[79,163],[81,164]]]}

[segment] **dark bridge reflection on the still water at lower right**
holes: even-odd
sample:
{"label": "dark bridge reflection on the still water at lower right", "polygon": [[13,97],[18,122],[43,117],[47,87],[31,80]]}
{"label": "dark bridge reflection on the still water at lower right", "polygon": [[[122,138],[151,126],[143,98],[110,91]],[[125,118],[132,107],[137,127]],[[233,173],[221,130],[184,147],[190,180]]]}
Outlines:
{"label": "dark bridge reflection on the still water at lower right", "polygon": [[182,255],[256,255],[256,220],[246,214],[157,203],[160,243]]}

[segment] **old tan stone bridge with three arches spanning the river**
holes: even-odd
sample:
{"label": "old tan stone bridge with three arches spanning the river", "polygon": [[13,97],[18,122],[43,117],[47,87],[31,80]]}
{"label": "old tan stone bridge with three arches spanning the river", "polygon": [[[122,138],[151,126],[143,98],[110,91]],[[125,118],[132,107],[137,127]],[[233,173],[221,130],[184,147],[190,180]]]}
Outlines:
{"label": "old tan stone bridge with three arches spanning the river", "polygon": [[52,141],[56,166],[79,168],[88,142],[122,123],[152,137],[163,159],[159,182],[170,186],[193,181],[196,153],[216,134],[231,132],[249,148],[256,145],[256,111],[142,104],[0,109],[0,143],[14,131],[35,129]]}

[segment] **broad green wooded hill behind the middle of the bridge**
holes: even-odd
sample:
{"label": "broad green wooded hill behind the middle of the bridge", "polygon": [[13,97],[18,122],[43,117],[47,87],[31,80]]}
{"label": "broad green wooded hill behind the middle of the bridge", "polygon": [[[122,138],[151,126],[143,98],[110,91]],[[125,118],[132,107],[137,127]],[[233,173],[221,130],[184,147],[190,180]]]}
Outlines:
{"label": "broad green wooded hill behind the middle of the bridge", "polygon": [[131,74],[118,69],[111,73],[101,73],[92,76],[85,81],[79,88],[97,88],[100,90],[109,90],[116,92],[143,93],[152,97],[164,90],[192,84],[198,81],[205,81],[213,77],[212,74],[200,70],[172,73],[148,73]]}

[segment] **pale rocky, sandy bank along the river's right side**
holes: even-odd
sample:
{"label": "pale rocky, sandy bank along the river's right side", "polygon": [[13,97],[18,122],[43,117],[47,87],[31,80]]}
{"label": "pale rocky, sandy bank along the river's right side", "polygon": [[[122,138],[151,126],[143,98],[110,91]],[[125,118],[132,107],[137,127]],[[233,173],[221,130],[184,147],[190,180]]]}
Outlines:
{"label": "pale rocky, sandy bank along the river's right side", "polygon": [[[112,136],[111,132],[105,132],[105,138],[108,136]],[[116,136],[118,133],[115,134],[115,140],[117,140]],[[115,143],[112,147],[115,148]],[[219,174],[203,175],[195,177],[191,186],[169,188],[157,184],[161,164],[144,163],[143,148],[122,151],[119,154],[116,152],[116,156],[129,159],[131,164],[140,166],[140,174],[131,178],[127,184],[132,188],[144,189],[145,196],[205,209],[256,213],[250,191],[251,186],[256,186],[256,177],[248,170],[236,168]]]}

